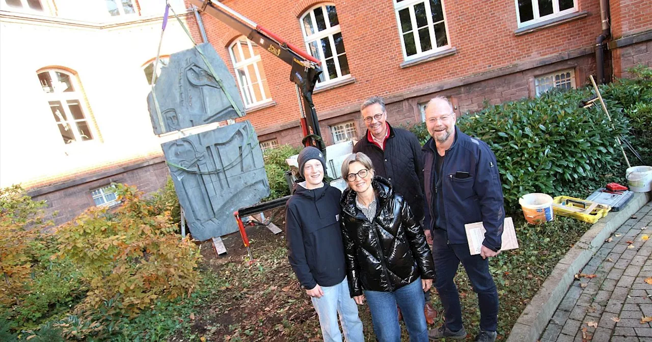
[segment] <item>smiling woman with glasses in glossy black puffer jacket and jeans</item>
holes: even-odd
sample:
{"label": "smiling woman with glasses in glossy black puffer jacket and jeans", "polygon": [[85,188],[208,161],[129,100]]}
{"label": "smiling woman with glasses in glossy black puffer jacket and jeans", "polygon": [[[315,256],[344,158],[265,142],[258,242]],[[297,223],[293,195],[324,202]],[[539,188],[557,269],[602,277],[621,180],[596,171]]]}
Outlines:
{"label": "smiling woman with glasses in glossy black puffer jacket and jeans", "polygon": [[428,341],[423,292],[435,271],[421,225],[389,180],[374,175],[366,154],[348,156],[342,177],[348,188],[340,200],[340,225],[351,297],[359,305],[366,298],[378,341],[401,339],[396,304],[410,341]]}

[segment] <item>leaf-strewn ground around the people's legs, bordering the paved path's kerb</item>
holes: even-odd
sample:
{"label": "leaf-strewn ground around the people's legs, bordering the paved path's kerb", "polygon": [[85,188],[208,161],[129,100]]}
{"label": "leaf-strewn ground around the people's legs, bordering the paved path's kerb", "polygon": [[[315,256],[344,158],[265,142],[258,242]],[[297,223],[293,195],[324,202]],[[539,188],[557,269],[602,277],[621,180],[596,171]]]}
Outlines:
{"label": "leaf-strewn ground around the people's legs, bordering the paved path's kerb", "polygon": [[[282,212],[276,212],[274,221],[284,228]],[[535,226],[515,216],[514,224],[520,249],[505,251],[490,263],[500,296],[498,334],[503,340],[557,261],[590,227],[567,218]],[[273,235],[263,226],[247,231],[254,262],[248,261],[237,233],[224,238],[229,252],[224,256],[217,256],[211,244],[202,244],[203,280],[198,291],[190,300],[144,315],[154,319],[148,322],[151,330],[174,328],[168,341],[321,341],[316,313],[288,264],[284,233]],[[477,296],[462,268],[456,283],[467,340],[472,341],[479,330]],[[432,294],[436,327],[443,323],[442,306],[434,289]],[[366,339],[375,341],[367,306],[360,307],[360,315]],[[153,331],[146,335],[147,340],[155,336]],[[408,341],[406,330],[403,340]]]}

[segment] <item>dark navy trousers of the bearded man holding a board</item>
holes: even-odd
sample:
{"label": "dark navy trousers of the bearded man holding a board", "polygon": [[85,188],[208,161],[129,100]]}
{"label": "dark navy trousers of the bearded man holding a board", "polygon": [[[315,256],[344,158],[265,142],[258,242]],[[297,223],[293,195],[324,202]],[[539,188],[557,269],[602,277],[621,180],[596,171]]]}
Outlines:
{"label": "dark navy trousers of the bearded man holding a board", "polygon": [[437,276],[435,288],[444,307],[446,327],[452,331],[462,329],[460,296],[453,281],[462,262],[473,291],[478,295],[480,328],[495,332],[498,322],[498,291],[494,278],[489,273],[489,259],[482,259],[479,254],[471,255],[468,244],[447,244],[446,235],[443,229],[432,231],[432,258]]}

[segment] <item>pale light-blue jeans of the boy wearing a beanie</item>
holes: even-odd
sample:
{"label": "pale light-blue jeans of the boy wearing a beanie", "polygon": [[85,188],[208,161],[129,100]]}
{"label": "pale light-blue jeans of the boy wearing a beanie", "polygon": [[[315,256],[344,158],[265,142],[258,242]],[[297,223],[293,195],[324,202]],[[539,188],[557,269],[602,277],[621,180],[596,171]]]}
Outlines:
{"label": "pale light-blue jeans of the boy wearing a beanie", "polygon": [[312,297],[312,306],[319,316],[321,335],[325,342],[340,342],[342,334],[337,324],[337,315],[340,314],[340,323],[344,332],[344,339],[348,342],[364,342],[363,322],[358,317],[358,306],[349,294],[349,284],[344,280],[334,286],[321,287],[324,295],[321,298]]}

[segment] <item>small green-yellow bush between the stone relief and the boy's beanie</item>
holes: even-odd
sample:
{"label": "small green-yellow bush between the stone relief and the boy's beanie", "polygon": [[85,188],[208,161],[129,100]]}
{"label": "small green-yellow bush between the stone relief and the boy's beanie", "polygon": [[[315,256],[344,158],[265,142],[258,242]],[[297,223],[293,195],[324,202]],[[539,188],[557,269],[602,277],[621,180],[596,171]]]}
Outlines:
{"label": "small green-yellow bush between the stone relief and the boy's beanie", "polygon": [[301,152],[300,148],[291,147],[290,145],[281,145],[263,152],[265,172],[267,173],[267,180],[269,180],[270,190],[269,196],[263,201],[271,201],[289,195],[288,182],[285,179],[285,173],[289,171],[289,166],[285,160],[299,152]]}

